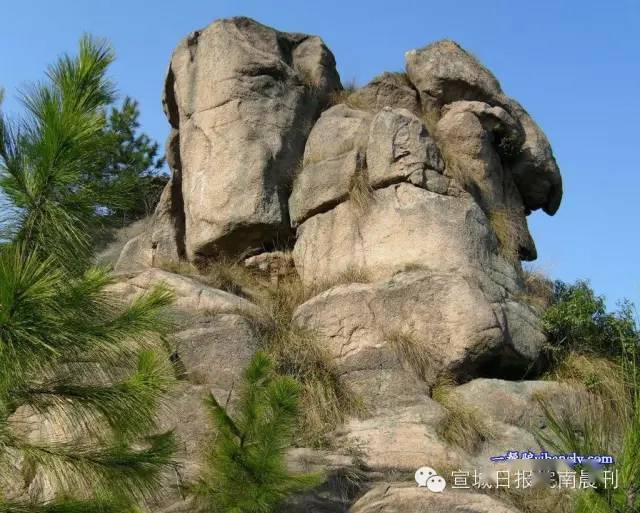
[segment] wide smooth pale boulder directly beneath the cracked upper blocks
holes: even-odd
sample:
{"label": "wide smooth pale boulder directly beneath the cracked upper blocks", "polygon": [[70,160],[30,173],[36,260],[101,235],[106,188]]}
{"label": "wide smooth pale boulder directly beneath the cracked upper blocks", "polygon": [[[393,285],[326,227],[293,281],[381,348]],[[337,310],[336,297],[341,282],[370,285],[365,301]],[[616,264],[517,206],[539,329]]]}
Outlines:
{"label": "wide smooth pale boulder directly beneath the cracked upper blocks", "polygon": [[306,220],[293,257],[303,281],[311,283],[353,269],[385,278],[415,266],[437,272],[490,267],[499,259],[497,245],[469,194],[400,182],[373,191],[366,209],[349,200]]}

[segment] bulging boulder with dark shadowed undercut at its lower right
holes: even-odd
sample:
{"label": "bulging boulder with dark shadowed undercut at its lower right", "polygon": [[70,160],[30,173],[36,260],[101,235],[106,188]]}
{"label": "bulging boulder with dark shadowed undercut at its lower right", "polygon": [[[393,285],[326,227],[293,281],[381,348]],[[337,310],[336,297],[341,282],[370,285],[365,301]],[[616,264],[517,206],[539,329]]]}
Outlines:
{"label": "bulging boulder with dark shadowed undercut at its lower right", "polygon": [[[336,286],[301,305],[294,316],[294,322],[319,334],[341,372],[353,373],[356,381],[367,370],[375,378],[384,369],[402,368],[398,352],[410,351],[419,359],[413,363],[420,365],[425,383],[443,373],[467,380],[512,375],[520,368],[524,375],[544,339],[528,333],[518,337],[509,330],[510,320],[499,303],[460,274],[420,270],[372,284]],[[396,404],[418,390],[399,386]],[[379,391],[367,393],[377,404]]]}

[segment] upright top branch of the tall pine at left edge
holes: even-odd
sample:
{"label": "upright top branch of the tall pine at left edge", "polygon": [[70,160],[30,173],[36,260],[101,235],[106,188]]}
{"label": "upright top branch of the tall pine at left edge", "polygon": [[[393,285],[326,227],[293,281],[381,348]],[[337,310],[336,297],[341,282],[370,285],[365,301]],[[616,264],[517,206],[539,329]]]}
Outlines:
{"label": "upright top branch of the tall pine at left edge", "polygon": [[23,93],[28,117],[0,122],[0,187],[13,209],[3,223],[28,247],[86,264],[89,228],[99,220],[95,184],[84,179],[106,147],[103,111],[114,96],[106,69],[113,61],[104,43],[83,38],[78,56],[49,67],[48,80]]}

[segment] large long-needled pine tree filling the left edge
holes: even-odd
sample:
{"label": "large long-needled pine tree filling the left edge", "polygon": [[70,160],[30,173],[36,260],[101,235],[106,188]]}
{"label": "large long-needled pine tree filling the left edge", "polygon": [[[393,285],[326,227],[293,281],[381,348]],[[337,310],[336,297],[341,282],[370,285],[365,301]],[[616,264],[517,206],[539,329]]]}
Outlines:
{"label": "large long-needled pine tree filling the left edge", "polygon": [[[171,384],[158,349],[171,295],[131,304],[91,266],[96,205],[87,179],[109,148],[109,46],[81,39],[23,94],[26,119],[0,121],[0,512],[133,511],[170,465],[173,434],[156,433]],[[35,418],[53,430],[37,436]],[[52,493],[15,487],[43,478]]]}

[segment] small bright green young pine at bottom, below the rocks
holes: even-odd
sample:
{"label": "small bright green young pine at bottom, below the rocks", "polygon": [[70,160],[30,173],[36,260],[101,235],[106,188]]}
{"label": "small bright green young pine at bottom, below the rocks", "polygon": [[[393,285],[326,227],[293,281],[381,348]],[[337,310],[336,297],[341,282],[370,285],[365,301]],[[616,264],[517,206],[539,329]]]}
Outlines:
{"label": "small bright green young pine at bottom, below the rocks", "polygon": [[315,475],[292,475],[284,461],[299,414],[298,395],[296,381],[278,376],[269,357],[259,352],[245,370],[234,418],[209,396],[216,435],[194,486],[204,510],[270,513],[289,495],[318,482]]}

